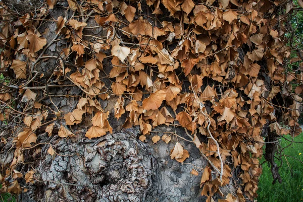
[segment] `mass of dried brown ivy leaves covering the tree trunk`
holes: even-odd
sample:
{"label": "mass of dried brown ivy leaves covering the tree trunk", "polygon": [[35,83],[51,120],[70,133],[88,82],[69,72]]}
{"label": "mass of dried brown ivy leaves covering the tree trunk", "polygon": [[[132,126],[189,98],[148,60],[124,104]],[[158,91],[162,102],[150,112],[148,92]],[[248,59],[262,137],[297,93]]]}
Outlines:
{"label": "mass of dried brown ivy leaves covering the tree trunk", "polygon": [[[215,193],[222,195],[220,187],[232,178],[234,191],[219,201],[253,200],[262,172],[264,128],[276,137],[301,132],[297,119],[302,98],[293,93],[291,84],[299,84],[295,90],[300,94],[302,63],[289,71],[288,63],[299,58],[288,59],[292,47],[285,35],[294,8],[290,1],[47,0],[39,10],[22,16],[9,5],[0,5],[1,71],[13,75],[16,84],[1,84],[0,117],[19,120],[10,128],[15,152],[13,160],[2,165],[2,192],[20,193],[18,178],[34,182],[35,171],[25,174],[16,169],[26,162],[24,151],[39,144],[39,132],[77,137],[73,126],[91,114],[88,139],[111,133],[109,112],[100,99],[117,98],[114,116],[126,114],[126,128],[139,126],[141,141],[159,125],[184,128],[184,134],[167,132],[152,140],[168,144],[171,159],[180,163],[189,153],[178,138],[195,144],[201,158],[209,162],[200,183],[207,201],[213,201]],[[48,18],[57,7],[72,12],[72,17]],[[88,19],[96,25],[88,27]],[[53,39],[46,40],[39,32],[46,21],[56,23]],[[96,28],[106,34],[83,34]],[[58,40],[66,42],[65,48],[45,54]],[[57,60],[57,66],[45,79],[36,65],[50,58]],[[109,74],[104,71],[105,61],[111,66]],[[54,96],[48,89],[63,81],[82,91],[71,112],[43,104]],[[18,95],[20,101],[15,99]],[[12,100],[26,105],[19,111],[11,107]],[[55,120],[60,120],[60,128],[54,128]],[[268,144],[276,139],[271,140]],[[6,143],[3,138],[1,144]],[[58,155],[51,145],[48,153]],[[274,156],[268,158],[272,161]],[[14,180],[8,181],[9,176]]]}

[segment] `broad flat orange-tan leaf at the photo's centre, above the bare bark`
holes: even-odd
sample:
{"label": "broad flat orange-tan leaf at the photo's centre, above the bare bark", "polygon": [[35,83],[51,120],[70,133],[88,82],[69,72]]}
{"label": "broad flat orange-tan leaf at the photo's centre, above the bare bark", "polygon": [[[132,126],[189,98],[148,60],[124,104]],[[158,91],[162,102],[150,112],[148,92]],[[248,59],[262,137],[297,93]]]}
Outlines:
{"label": "broad flat orange-tan leaf at the photo's centre, above the bare bark", "polygon": [[156,91],[155,93],[150,93],[149,97],[143,100],[142,107],[147,111],[149,109],[156,110],[161,106],[165,97],[165,91],[163,90]]}

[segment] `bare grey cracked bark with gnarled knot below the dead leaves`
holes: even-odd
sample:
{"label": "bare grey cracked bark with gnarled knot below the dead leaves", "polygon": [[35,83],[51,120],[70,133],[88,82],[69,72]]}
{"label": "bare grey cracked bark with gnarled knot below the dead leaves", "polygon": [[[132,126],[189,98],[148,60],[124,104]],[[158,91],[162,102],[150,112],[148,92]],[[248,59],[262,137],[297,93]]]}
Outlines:
{"label": "bare grey cracked bark with gnarled knot below the dead leaves", "polygon": [[[192,165],[171,160],[164,142],[151,149],[138,135],[131,128],[93,141],[54,138],[63,156],[48,155],[48,145],[39,150],[38,181],[22,201],[205,201],[199,197],[200,176],[190,174]],[[188,162],[206,165],[195,148],[189,151]]]}

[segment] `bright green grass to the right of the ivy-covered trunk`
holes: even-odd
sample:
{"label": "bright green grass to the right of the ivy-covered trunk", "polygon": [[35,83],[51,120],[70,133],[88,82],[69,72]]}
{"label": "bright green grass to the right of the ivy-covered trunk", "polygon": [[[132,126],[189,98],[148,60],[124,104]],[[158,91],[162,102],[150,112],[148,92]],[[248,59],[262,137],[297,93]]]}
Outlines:
{"label": "bright green grass to the right of the ivy-covered trunk", "polygon": [[[291,140],[290,136],[285,136]],[[303,134],[294,138],[295,142],[303,142]],[[281,145],[285,147],[289,144],[288,141],[282,139]],[[302,154],[300,154],[302,153]],[[293,143],[290,147],[285,149],[285,155],[289,155],[303,161],[303,145],[300,143]],[[263,164],[263,173],[260,177],[258,201],[260,202],[295,202],[303,201],[303,164],[299,161],[286,157],[290,168],[287,166],[285,158],[283,164],[279,169],[282,178],[282,183],[277,181],[272,184],[273,177],[271,170],[267,164]],[[261,162],[264,161],[264,158]]]}

